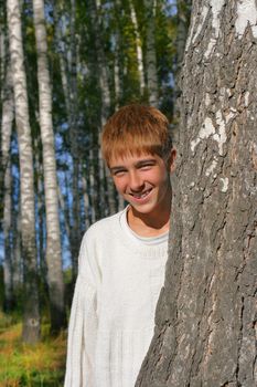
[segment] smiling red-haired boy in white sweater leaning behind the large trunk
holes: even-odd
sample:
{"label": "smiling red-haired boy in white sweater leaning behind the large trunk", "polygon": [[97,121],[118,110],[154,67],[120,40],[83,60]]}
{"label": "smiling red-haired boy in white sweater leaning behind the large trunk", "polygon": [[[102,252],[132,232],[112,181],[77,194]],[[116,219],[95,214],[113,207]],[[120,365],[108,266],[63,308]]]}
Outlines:
{"label": "smiling red-haired boy in white sweater leaning behind the large trunk", "polygon": [[168,119],[125,106],[105,125],[101,151],[128,206],[83,238],[65,387],[135,386],[164,279],[175,159]]}

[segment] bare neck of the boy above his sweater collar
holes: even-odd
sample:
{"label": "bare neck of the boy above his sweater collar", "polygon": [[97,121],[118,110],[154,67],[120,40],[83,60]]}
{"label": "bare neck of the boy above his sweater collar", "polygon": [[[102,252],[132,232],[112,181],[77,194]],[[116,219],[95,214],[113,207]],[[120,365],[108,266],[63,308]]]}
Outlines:
{"label": "bare neck of the boy above his sweater collar", "polygon": [[171,206],[156,213],[141,213],[129,206],[127,221],[130,229],[140,237],[158,237],[169,231]]}

